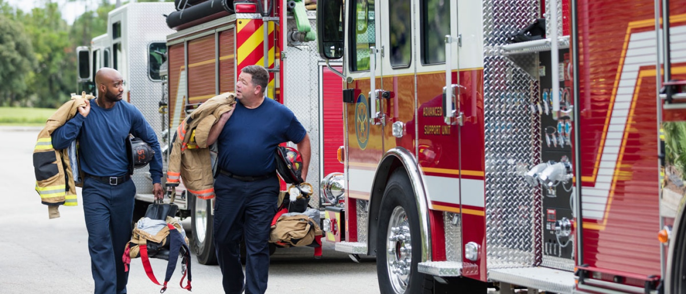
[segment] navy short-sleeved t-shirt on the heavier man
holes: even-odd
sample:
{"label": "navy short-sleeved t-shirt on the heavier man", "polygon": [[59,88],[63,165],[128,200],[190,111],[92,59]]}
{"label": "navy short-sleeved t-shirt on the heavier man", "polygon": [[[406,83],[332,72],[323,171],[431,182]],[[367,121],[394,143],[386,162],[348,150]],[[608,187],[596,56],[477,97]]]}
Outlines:
{"label": "navy short-sleeved t-shirt on the heavier man", "polygon": [[259,176],[276,171],[274,153],[284,142],[300,143],[305,127],[281,103],[265,98],[255,109],[236,103],[217,138],[219,167],[235,175]]}

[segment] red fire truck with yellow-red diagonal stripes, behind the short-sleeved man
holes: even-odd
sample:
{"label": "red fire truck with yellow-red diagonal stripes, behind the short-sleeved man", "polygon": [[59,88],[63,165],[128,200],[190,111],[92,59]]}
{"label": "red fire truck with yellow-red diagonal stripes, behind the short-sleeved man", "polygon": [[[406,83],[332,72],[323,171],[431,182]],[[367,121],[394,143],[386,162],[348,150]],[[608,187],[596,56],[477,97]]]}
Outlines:
{"label": "red fire truck with yellow-red diagonal stripes, behind the short-sleeved man", "polygon": [[[321,174],[342,171],[335,158],[343,138],[336,98],[342,82],[318,56],[313,8],[305,0],[177,0],[176,11],[167,16],[168,27],[176,32],[167,36],[167,62],[161,69],[161,112],[171,128],[163,140],[170,143],[182,119],[201,103],[233,92],[244,66],[259,64],[270,72],[266,95],[292,110],[309,133],[308,182],[318,186]],[[186,197],[184,190],[176,189],[177,199],[188,200],[198,261],[216,264],[213,202]],[[330,203],[316,191],[309,204],[319,208]]]}

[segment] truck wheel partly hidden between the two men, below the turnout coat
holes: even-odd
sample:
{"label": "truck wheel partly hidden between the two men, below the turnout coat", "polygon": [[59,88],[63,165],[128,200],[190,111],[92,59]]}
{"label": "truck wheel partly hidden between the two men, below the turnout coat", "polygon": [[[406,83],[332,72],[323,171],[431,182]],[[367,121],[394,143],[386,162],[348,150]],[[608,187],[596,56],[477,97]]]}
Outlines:
{"label": "truck wheel partly hidden between the two men, below the turnout coat", "polygon": [[193,231],[193,250],[201,265],[216,265],[217,252],[214,246],[212,200],[188,197],[191,208],[191,228]]}

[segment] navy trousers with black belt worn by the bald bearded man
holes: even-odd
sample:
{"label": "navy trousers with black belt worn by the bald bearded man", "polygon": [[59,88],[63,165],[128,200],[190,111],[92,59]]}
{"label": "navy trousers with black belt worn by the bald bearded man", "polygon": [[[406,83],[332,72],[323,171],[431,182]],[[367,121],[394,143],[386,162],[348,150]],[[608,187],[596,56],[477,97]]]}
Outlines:
{"label": "navy trousers with black belt worn by the bald bearded man", "polygon": [[82,195],[95,294],[126,293],[121,256],[131,239],[136,186],[132,180],[112,186],[86,177]]}

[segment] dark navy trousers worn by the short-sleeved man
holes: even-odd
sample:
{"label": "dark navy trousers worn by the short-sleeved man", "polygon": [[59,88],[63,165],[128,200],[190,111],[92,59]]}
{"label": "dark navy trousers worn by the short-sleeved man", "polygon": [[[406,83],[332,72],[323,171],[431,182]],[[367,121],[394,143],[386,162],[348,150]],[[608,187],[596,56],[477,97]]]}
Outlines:
{"label": "dark navy trousers worn by the short-sleeved man", "polygon": [[269,233],[276,215],[279,178],[243,182],[223,173],[215,182],[214,236],[224,292],[244,286],[240,243],[246,244],[246,294],[265,293],[269,275]]}

